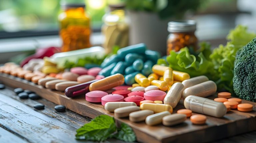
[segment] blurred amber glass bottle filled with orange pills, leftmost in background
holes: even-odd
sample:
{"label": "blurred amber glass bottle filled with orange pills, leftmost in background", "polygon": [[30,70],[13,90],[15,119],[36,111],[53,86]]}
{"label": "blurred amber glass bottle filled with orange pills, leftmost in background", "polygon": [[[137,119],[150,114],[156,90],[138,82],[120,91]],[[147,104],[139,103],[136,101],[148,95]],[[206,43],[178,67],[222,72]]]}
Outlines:
{"label": "blurred amber glass bottle filled with orange pills, leftmost in background", "polygon": [[59,15],[62,52],[84,49],[90,45],[90,18],[85,13],[85,4],[64,4]]}

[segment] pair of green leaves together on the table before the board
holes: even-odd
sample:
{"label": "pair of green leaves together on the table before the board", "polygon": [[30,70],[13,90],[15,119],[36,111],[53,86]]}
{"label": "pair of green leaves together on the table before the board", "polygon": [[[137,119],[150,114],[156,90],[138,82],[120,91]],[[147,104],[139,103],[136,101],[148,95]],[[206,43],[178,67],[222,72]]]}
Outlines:
{"label": "pair of green leaves together on the table before the board", "polygon": [[77,129],[76,132],[76,139],[102,142],[113,137],[127,142],[136,141],[136,135],[131,127],[122,123],[121,128],[117,128],[115,119],[108,115],[97,116],[90,123]]}

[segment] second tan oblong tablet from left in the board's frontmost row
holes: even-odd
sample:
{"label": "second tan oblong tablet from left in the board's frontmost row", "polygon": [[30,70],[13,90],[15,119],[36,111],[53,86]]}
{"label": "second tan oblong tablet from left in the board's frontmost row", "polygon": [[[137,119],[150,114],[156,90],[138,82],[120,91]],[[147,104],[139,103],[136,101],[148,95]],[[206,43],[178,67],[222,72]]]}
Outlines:
{"label": "second tan oblong tablet from left in the board's frontmost row", "polygon": [[154,111],[152,110],[135,111],[129,114],[129,120],[132,122],[145,121],[146,117],[152,114],[154,114]]}

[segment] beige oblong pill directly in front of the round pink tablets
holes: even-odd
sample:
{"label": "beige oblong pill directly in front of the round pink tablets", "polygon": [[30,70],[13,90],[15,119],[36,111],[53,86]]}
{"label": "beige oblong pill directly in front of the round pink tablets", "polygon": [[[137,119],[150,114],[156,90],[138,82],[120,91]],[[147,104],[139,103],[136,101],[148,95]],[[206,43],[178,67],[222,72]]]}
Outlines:
{"label": "beige oblong pill directly in front of the round pink tablets", "polygon": [[114,112],[116,108],[126,107],[126,106],[137,106],[137,104],[134,102],[107,102],[104,105],[104,108],[109,112]]}

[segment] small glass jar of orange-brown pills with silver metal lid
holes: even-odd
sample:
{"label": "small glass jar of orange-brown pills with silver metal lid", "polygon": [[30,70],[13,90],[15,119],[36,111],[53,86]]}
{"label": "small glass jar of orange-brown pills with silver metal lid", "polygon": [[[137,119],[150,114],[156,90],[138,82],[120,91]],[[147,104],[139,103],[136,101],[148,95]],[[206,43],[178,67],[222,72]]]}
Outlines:
{"label": "small glass jar of orange-brown pills with silver metal lid", "polygon": [[170,21],[167,30],[170,33],[167,38],[167,55],[170,54],[171,50],[177,52],[184,47],[191,46],[194,50],[197,49],[196,21]]}

